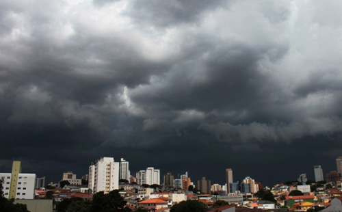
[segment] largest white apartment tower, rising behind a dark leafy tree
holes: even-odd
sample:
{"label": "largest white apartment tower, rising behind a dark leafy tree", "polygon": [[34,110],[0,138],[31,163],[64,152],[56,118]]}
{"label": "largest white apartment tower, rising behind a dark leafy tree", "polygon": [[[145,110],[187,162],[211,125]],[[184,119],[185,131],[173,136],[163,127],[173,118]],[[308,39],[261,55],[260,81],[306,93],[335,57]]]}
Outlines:
{"label": "largest white apartment tower, rising behind a dark leafy tree", "polygon": [[120,163],[114,162],[113,157],[102,157],[89,167],[89,185],[92,193],[104,191],[105,194],[119,189]]}

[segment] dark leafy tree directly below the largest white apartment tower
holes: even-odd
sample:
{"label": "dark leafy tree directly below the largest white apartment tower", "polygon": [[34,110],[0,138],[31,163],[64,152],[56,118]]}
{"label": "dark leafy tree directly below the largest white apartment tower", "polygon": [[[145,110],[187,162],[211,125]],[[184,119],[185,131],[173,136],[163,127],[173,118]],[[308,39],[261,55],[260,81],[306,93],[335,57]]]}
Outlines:
{"label": "dark leafy tree directly below the largest white apartment tower", "polygon": [[126,201],[120,196],[118,190],[110,191],[109,194],[104,194],[100,191],[94,194],[92,198],[92,206],[90,212],[124,212],[131,211],[126,207]]}

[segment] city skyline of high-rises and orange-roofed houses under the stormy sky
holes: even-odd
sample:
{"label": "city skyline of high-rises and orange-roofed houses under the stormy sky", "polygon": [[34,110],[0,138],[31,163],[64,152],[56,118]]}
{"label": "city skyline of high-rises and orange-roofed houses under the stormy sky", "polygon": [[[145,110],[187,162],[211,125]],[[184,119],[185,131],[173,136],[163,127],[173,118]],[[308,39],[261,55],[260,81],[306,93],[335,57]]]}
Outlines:
{"label": "city skyline of high-rises and orange-roofed houses under the stormy sky", "polygon": [[[12,172],[0,173],[0,178],[4,197],[17,202],[42,200],[49,195],[52,195],[50,198],[54,198],[55,202],[73,197],[90,199],[100,191],[107,194],[120,189],[120,195],[133,210],[141,207],[148,211],[170,211],[172,205],[185,200],[197,200],[211,208],[214,202],[220,200],[231,205],[222,207],[222,211],[230,212],[239,211],[239,207],[261,210],[278,208],[289,211],[320,209],[324,212],[335,212],[342,211],[342,157],[338,157],[336,163],[337,170],[328,172],[326,181],[321,165],[314,165],[315,181],[310,181],[306,173],[303,173],[298,176],[297,181],[280,183],[272,188],[265,187],[250,176],[234,181],[232,168],[225,170],[224,185],[212,184],[205,176],[195,185],[188,172],[177,175],[166,172],[161,182],[159,169],[148,167],[132,176],[129,161],[121,158],[116,162],[113,157],[101,157],[94,161],[89,166],[89,172],[81,178],[68,171],[62,174],[61,181],[49,183],[47,186],[44,176],[38,178],[36,174],[21,173],[21,161],[13,161]],[[261,194],[266,193],[271,198],[263,200]],[[34,203],[32,208],[37,207],[38,203]]]}

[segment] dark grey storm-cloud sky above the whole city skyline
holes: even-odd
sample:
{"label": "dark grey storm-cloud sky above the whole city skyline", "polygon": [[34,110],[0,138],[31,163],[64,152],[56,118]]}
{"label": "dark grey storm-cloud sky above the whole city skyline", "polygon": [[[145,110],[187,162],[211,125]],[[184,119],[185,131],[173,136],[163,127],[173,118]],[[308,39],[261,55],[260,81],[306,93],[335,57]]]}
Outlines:
{"label": "dark grey storm-cloud sky above the whole city skyline", "polygon": [[100,157],[268,186],[342,155],[342,1],[0,1],[0,172]]}

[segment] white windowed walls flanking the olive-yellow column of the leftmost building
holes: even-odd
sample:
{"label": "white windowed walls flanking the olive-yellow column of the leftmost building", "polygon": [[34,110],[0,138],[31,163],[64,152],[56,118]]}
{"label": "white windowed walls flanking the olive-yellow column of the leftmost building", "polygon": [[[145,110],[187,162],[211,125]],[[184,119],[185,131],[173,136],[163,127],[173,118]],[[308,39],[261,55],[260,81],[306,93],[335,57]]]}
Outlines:
{"label": "white windowed walls flanking the olive-yellow column of the leftmost building", "polygon": [[[3,194],[8,198],[10,194],[10,173],[0,173],[3,179]],[[36,188],[36,174],[18,174],[18,182],[16,185],[16,199],[34,199],[34,189]]]}

